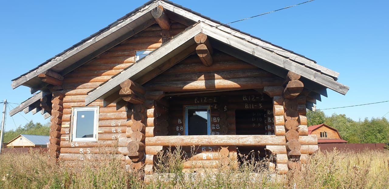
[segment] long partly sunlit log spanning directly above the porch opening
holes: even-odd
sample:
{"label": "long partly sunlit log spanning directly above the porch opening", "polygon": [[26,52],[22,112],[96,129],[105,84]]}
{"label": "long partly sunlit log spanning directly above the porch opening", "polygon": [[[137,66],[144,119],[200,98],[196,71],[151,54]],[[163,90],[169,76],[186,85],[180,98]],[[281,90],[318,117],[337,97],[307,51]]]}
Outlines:
{"label": "long partly sunlit log spanning directly above the porch opening", "polygon": [[217,79],[206,81],[178,81],[146,84],[146,87],[165,92],[173,91],[194,91],[194,90],[214,90],[214,89],[252,89],[264,86],[277,86],[281,82],[277,78],[237,78],[237,79]]}

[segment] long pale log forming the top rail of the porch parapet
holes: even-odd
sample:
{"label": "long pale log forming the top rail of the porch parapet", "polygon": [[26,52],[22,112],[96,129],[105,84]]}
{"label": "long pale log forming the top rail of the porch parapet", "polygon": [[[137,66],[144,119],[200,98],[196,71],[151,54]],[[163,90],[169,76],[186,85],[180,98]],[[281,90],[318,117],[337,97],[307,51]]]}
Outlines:
{"label": "long pale log forming the top rail of the porch parapet", "polygon": [[285,137],[274,135],[192,135],[146,137],[147,146],[154,145],[220,145],[220,146],[266,146],[285,145]]}

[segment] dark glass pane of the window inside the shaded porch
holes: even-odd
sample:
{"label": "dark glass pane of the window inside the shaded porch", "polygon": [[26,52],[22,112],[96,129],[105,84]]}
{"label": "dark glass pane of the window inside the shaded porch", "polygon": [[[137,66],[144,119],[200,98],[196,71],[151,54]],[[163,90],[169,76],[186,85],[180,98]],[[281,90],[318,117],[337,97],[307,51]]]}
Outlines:
{"label": "dark glass pane of the window inside the shaded porch", "polygon": [[208,135],[207,108],[188,109],[188,135]]}

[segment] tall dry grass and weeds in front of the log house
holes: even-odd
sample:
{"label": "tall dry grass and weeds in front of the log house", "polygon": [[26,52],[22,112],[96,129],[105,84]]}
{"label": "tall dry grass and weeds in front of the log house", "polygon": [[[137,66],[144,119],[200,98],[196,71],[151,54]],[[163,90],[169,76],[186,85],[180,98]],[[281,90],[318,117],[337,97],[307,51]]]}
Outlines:
{"label": "tall dry grass and weeds in front of the log house", "polygon": [[[219,166],[216,171],[183,173],[183,152],[168,152],[156,166],[161,177],[144,183],[141,172],[126,171],[123,161],[107,154],[98,162],[61,162],[47,154],[0,155],[0,188],[389,188],[389,151],[317,152],[293,177],[268,171],[268,159]],[[237,169],[237,167],[240,167]],[[173,174],[168,174],[173,173]]]}

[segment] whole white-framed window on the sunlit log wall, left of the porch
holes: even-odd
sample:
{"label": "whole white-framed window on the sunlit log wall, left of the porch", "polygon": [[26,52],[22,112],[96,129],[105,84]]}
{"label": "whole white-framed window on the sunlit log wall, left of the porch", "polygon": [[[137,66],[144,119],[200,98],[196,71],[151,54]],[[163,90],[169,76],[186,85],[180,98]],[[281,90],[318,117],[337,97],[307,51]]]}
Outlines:
{"label": "whole white-framed window on the sunlit log wall, left of the porch", "polygon": [[72,141],[97,142],[99,107],[72,108]]}

